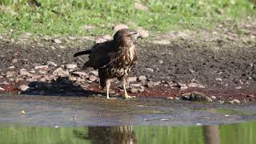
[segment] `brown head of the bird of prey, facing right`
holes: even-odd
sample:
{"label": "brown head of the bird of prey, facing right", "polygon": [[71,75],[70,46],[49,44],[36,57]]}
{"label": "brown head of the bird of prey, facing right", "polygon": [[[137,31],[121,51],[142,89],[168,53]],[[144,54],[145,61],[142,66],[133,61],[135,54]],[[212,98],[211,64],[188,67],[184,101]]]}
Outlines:
{"label": "brown head of the bird of prey, facing right", "polygon": [[114,42],[119,46],[131,46],[138,38],[141,38],[141,35],[130,29],[121,29],[114,34]]}

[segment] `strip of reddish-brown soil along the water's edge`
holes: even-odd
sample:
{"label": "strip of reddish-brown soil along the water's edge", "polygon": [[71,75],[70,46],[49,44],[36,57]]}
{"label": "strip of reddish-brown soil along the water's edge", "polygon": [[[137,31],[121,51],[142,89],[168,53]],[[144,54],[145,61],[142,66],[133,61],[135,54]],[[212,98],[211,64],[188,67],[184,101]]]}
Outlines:
{"label": "strip of reddish-brown soil along the water's edge", "polygon": [[[13,84],[13,85],[0,85],[5,90],[0,90],[0,93],[9,93],[9,94],[18,94],[20,90],[18,90],[19,84]],[[92,96],[97,96],[98,94],[101,94],[103,97],[105,97],[105,92],[102,90],[98,83],[92,83],[88,90],[90,90],[92,93]],[[82,93],[84,91],[82,90],[64,90],[61,94],[56,94],[55,92],[51,93],[50,90],[46,90],[46,95],[58,95],[58,96],[83,96]],[[115,94],[119,97],[122,96],[123,92],[120,91],[120,89],[115,89]],[[138,93],[138,94],[130,94],[133,96],[136,96],[137,98],[163,98],[168,99],[170,97],[173,98],[181,98],[182,94],[191,93],[191,92],[199,92],[202,94],[205,94],[206,96],[215,96],[216,99],[214,102],[218,101],[224,101],[228,102],[233,99],[238,99],[240,102],[243,103],[254,103],[256,102],[256,90],[214,90],[214,89],[199,89],[199,88],[189,88],[187,90],[179,90],[179,89],[170,89],[165,86],[156,86],[154,89],[152,88],[146,88],[144,92]],[[86,94],[88,92],[85,91],[84,96],[88,96]],[[32,93],[26,93],[26,94],[32,94]],[[39,95],[39,94],[38,94]]]}

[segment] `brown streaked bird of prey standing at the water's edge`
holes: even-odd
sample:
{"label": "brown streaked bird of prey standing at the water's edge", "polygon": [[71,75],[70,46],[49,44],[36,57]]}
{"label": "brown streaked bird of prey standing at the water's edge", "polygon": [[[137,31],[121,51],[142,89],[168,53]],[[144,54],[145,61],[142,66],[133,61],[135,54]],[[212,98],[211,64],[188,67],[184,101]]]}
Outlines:
{"label": "brown streaked bird of prey standing at the water's edge", "polygon": [[74,58],[83,54],[89,54],[87,61],[82,69],[93,67],[98,70],[102,89],[106,87],[106,98],[109,99],[110,82],[113,78],[122,80],[124,98],[133,98],[126,92],[126,83],[131,66],[138,62],[138,52],[134,46],[140,34],[134,30],[122,29],[114,34],[114,39],[97,43],[91,49],[80,51],[74,54]]}

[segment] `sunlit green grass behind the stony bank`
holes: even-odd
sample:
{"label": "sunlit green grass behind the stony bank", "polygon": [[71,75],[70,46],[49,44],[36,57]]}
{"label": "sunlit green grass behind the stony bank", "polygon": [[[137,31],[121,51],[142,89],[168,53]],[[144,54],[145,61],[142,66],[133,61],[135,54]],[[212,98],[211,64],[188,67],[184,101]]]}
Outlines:
{"label": "sunlit green grass behind the stony bank", "polygon": [[[0,33],[30,32],[42,35],[113,34],[111,27],[124,23],[153,32],[211,29],[227,18],[237,22],[255,15],[247,0],[142,0],[149,10],[137,10],[132,0],[1,0]],[[95,26],[91,31],[84,26]]]}

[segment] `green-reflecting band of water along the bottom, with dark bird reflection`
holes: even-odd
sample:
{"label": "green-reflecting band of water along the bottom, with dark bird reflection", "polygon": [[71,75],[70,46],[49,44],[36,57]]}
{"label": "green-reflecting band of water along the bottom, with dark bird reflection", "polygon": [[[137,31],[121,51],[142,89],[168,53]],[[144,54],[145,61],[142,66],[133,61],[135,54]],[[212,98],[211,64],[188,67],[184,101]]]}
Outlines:
{"label": "green-reflecting band of water along the bottom, with dark bird reflection", "polygon": [[1,144],[254,144],[256,122],[218,126],[0,126]]}

